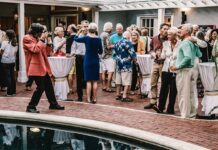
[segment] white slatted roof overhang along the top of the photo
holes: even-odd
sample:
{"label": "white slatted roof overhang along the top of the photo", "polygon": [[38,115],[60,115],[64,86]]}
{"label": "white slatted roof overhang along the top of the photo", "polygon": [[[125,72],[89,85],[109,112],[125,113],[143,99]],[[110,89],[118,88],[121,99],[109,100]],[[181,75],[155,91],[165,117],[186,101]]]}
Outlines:
{"label": "white slatted roof overhang along the top of the photo", "polygon": [[69,7],[88,6],[97,8],[99,11],[218,6],[218,0],[1,0],[1,2]]}

